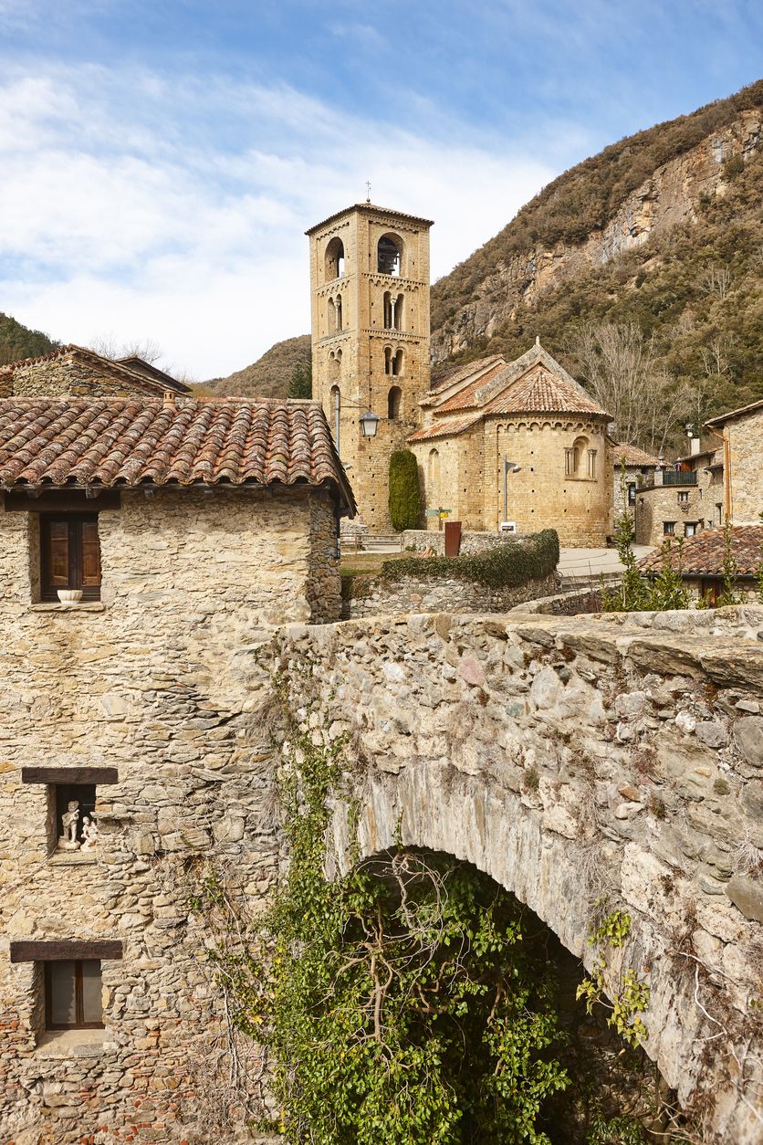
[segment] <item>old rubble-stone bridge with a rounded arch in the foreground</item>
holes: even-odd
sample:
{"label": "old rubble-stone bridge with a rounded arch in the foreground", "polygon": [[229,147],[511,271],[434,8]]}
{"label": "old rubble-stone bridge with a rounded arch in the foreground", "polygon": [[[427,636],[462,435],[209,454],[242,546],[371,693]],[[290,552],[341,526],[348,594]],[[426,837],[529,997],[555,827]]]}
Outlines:
{"label": "old rubble-stone bridge with a rounded arch in the foreground", "polygon": [[468,860],[589,966],[627,909],[646,1052],[704,1140],[763,1139],[763,608],[291,626],[276,657],[316,741],[350,733],[365,854]]}

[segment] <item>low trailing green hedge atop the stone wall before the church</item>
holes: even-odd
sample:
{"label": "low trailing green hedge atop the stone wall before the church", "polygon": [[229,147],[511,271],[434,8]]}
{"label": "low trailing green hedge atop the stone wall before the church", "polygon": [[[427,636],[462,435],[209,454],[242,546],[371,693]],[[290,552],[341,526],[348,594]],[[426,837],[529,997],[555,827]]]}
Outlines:
{"label": "low trailing green hedge atop the stone wall before the church", "polygon": [[559,538],[556,529],[543,529],[525,540],[506,540],[474,556],[411,556],[384,561],[380,577],[399,581],[416,579],[472,581],[491,589],[516,589],[527,581],[542,581],[559,563]]}

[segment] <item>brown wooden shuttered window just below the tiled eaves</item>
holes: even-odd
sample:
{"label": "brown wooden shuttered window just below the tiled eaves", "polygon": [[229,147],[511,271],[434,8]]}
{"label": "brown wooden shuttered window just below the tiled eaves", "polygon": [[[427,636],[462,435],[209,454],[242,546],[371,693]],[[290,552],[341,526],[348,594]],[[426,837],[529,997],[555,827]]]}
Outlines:
{"label": "brown wooden shuttered window just below the tiled eaves", "polygon": [[101,599],[101,545],[97,513],[40,514],[42,600],[58,600],[58,589],[81,589],[82,600]]}

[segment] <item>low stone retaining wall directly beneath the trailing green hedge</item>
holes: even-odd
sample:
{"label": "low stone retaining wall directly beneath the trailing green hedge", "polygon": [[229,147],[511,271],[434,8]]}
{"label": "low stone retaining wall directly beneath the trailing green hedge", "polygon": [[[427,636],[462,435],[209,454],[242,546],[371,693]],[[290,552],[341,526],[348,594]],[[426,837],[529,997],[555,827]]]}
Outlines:
{"label": "low stone retaining wall directly beneath the trailing green hedge", "polygon": [[559,586],[556,574],[511,589],[491,589],[456,577],[406,576],[391,582],[379,576],[344,579],[351,582],[342,610],[345,619],[405,613],[507,613],[523,601],[548,597]]}

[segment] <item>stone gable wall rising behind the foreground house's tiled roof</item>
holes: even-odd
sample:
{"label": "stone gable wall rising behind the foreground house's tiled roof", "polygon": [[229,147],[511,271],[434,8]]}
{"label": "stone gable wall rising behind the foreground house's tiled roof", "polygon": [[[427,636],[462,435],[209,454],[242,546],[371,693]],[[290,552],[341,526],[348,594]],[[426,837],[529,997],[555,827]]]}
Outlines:
{"label": "stone gable wall rising behind the foreground house's tiled roof", "polygon": [[161,386],[118,368],[106,370],[65,352],[58,357],[0,371],[0,397],[157,397]]}

